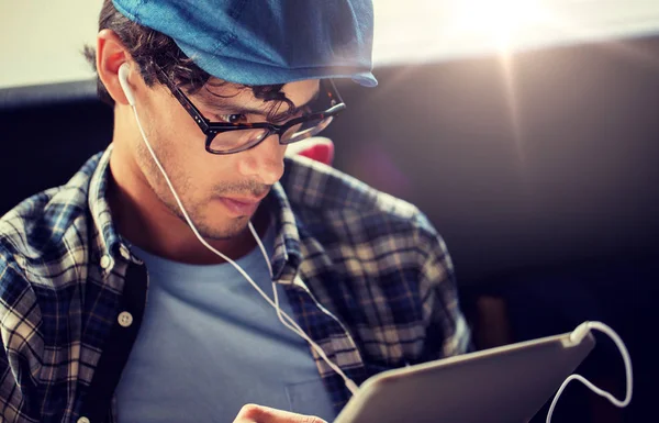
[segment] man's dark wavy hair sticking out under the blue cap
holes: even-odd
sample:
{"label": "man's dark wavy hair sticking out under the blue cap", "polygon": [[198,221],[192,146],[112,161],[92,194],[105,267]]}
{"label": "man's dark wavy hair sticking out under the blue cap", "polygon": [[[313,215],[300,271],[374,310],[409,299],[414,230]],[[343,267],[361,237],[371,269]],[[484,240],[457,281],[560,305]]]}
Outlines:
{"label": "man's dark wavy hair sticking out under the blue cap", "polygon": [[[176,45],[175,41],[157,31],[139,25],[122,13],[120,13],[112,4],[112,0],[103,0],[103,7],[99,16],[99,31],[112,30],[123,45],[129,49],[133,59],[139,66],[142,78],[148,87],[154,84],[170,85],[174,81],[178,87],[182,88],[188,94],[194,94],[201,89],[206,89],[210,93],[222,97],[213,92],[209,87],[221,87],[227,82],[210,81],[211,75],[197,66],[181,49]],[[85,46],[83,54],[87,60],[96,70],[96,49],[92,46]],[[160,68],[167,76],[163,76]],[[268,113],[281,115],[280,109],[283,104],[288,105],[287,111],[293,111],[294,104],[289,100],[281,88],[283,84],[270,86],[245,86],[242,88],[252,88],[254,97],[257,99],[272,102]],[[99,98],[114,105],[114,100],[108,93],[105,86],[100,80],[97,80],[97,89]],[[286,114],[286,113],[284,113]],[[286,118],[286,116],[282,116]]]}

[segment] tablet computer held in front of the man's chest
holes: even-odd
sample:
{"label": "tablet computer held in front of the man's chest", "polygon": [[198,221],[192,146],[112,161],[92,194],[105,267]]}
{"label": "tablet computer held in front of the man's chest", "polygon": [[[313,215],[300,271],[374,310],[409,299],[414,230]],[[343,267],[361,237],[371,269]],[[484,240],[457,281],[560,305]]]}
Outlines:
{"label": "tablet computer held in front of the man's chest", "polygon": [[376,375],[334,423],[523,423],[588,356],[570,333]]}

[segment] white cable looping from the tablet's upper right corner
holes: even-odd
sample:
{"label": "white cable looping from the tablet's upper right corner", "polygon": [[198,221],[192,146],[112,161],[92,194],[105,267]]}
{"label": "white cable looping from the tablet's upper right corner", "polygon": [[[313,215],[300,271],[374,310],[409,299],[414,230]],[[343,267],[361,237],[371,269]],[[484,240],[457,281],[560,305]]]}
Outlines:
{"label": "white cable looping from the tablet's upper right corner", "polygon": [[566,389],[568,383],[570,383],[572,380],[579,380],[580,382],[585,385],[591,391],[595,392],[600,397],[606,398],[615,407],[624,408],[624,407],[629,405],[629,402],[632,401],[632,387],[633,387],[632,358],[629,358],[629,353],[627,352],[627,347],[625,346],[625,343],[623,342],[623,339],[621,339],[621,337],[618,336],[617,333],[615,333],[614,330],[612,330],[611,327],[608,327],[607,325],[605,325],[604,323],[601,323],[601,322],[584,322],[584,323],[580,324],[579,326],[577,326],[577,329],[570,335],[570,341],[572,341],[576,344],[579,344],[589,334],[590,330],[600,331],[600,332],[608,335],[608,337],[611,337],[611,339],[613,339],[615,345],[618,347],[618,350],[621,352],[621,355],[623,356],[623,361],[625,363],[625,374],[626,374],[626,383],[627,383],[627,393],[625,396],[625,399],[622,401],[618,400],[611,393],[594,386],[590,380],[588,380],[587,378],[584,378],[581,375],[570,375],[562,382],[562,385],[556,392],[556,397],[554,397],[554,401],[551,401],[551,407],[549,407],[549,412],[547,413],[547,423],[551,422],[551,415],[554,414],[554,409],[556,408],[558,398],[560,397],[562,391]]}

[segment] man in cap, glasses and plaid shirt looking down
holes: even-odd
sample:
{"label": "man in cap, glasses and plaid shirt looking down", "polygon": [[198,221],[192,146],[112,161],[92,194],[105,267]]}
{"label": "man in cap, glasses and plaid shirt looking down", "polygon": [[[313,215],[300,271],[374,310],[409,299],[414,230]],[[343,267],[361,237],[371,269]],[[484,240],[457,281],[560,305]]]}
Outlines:
{"label": "man in cap, glasses and plaid shirt looking down", "polygon": [[469,348],[426,218],[284,158],[371,38],[368,0],[104,2],[112,143],[0,221],[2,421],[331,421]]}

